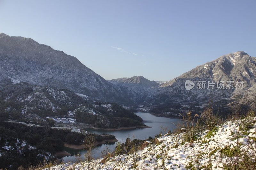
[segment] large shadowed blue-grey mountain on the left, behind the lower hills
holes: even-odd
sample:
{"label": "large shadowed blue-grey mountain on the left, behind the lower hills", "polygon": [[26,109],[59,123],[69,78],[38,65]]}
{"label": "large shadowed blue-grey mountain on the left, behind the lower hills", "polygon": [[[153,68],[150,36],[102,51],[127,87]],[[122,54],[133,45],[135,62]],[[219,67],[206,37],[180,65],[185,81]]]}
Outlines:
{"label": "large shadowed blue-grey mountain on the left, behind the lower hills", "polygon": [[30,38],[0,34],[0,86],[27,82],[84,94],[94,100],[131,103],[112,83],[76,57]]}

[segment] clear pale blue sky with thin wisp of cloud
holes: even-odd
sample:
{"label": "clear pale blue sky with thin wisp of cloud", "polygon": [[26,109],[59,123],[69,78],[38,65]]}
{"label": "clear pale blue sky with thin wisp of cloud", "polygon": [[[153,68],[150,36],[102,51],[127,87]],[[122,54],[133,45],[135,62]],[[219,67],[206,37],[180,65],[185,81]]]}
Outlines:
{"label": "clear pale blue sky with thin wisp of cloud", "polygon": [[169,81],[244,51],[256,56],[255,0],[0,0],[0,33],[75,56],[105,79]]}

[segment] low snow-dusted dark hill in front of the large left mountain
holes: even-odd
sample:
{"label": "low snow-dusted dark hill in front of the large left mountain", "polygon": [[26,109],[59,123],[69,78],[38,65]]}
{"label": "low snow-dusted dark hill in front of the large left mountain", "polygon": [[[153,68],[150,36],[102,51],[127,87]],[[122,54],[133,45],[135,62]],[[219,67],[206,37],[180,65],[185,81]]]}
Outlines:
{"label": "low snow-dusted dark hill in front of the large left mountain", "polygon": [[[67,89],[40,87],[24,82],[0,88],[0,101],[10,102],[8,112],[17,111],[15,116],[10,116],[12,119],[24,117],[29,113],[45,117],[57,116],[61,112],[63,116],[67,114],[67,109],[76,108],[88,102],[86,97]],[[4,108],[3,105],[1,107]]]}

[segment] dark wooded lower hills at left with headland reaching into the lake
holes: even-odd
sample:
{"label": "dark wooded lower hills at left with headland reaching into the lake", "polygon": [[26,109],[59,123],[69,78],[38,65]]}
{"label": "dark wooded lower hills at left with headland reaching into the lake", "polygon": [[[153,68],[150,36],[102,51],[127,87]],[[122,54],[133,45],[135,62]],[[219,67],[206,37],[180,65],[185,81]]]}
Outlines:
{"label": "dark wooded lower hills at left with headland reaching into the lake", "polygon": [[98,128],[144,126],[139,116],[118,104],[91,104],[88,96],[28,83],[7,85],[0,89],[0,110],[0,121],[46,125],[48,117],[68,118],[68,112],[72,112],[72,121],[78,122],[72,125],[74,127],[79,124],[85,126],[84,123]]}

